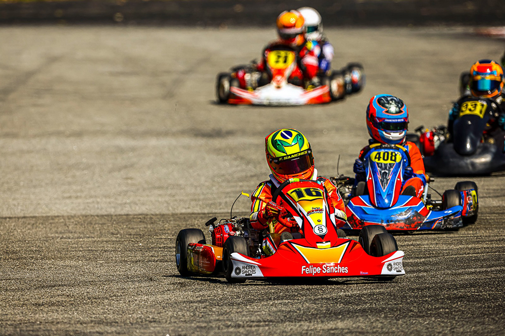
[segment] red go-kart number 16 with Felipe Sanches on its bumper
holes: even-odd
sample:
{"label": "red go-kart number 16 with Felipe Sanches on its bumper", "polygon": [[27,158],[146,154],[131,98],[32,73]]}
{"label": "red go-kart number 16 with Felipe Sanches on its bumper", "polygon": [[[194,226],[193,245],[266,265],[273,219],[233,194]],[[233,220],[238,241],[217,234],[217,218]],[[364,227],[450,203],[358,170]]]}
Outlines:
{"label": "red go-kart number 16 with Felipe Sanches on its bumper", "polygon": [[[199,229],[181,230],[176,264],[182,276],[221,275],[229,282],[275,277],[367,277],[392,280],[404,275],[394,237],[381,225],[361,230],[359,240],[338,229],[326,188],[312,180],[290,179],[272,200],[284,207],[297,226],[291,233],[251,228],[248,218],[207,222],[212,244]],[[272,223],[271,223],[272,224]]]}

